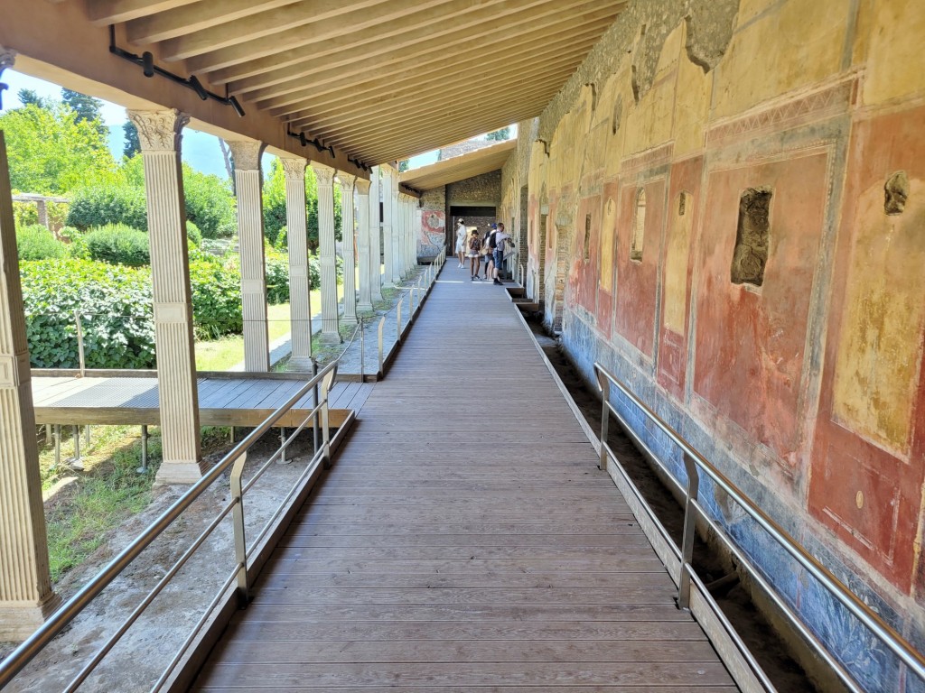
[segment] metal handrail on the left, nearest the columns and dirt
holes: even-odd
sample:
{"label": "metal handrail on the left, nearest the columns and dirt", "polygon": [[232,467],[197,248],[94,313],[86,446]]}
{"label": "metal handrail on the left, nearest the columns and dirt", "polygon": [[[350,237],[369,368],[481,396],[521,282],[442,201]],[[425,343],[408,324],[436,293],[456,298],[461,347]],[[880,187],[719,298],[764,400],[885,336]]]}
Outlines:
{"label": "metal handrail on the left, nearest the columns and dirt", "polygon": [[[328,417],[328,395],[330,393],[330,387],[334,383],[334,378],[337,375],[338,361],[332,361],[327,364],[321,371],[318,371],[314,377],[305,383],[299,391],[292,395],[289,400],[287,400],[281,407],[278,407],[276,411],[273,412],[267,419],[264,420],[257,428],[253,430],[247,437],[245,437],[239,444],[235,445],[234,448],[224,456],[216,465],[209,469],[202,479],[194,483],[186,492],[184,492],[174,503],[170,505],[147,529],[144,529],[142,533],[136,537],[129,545],[123,549],[118,555],[106,565],[103,570],[101,570],[95,577],[93,577],[87,584],[85,584],[73,597],[71,597],[68,602],[63,604],[55,614],[52,614],[51,617],[40,626],[30,638],[26,639],[19,647],[14,650],[8,657],[6,657],[3,662],[0,662],[0,688],[5,687],[19,672],[25,667],[31,660],[41,651],[43,648],[51,642],[65,627],[70,624],[82,611],[85,609],[93,599],[100,594],[105,588],[110,585],[113,580],[115,580],[122,571],[135,559],[139,554],[144,551],[158,536],[160,536],[176,519],[178,519],[182,513],[190,507],[201,495],[202,493],[209,488],[219,477],[224,474],[228,468],[232,468],[231,473],[231,495],[232,498],[219,511],[219,518],[214,520],[207,529],[192,543],[191,549],[184,553],[173,567],[167,571],[167,575],[154,586],[154,589],[149,592],[148,597],[146,597],[139,608],[129,615],[129,618],[123,622],[121,626],[117,629],[117,634],[114,638],[110,638],[104,646],[94,654],[91,662],[81,669],[80,673],[71,681],[70,686],[67,690],[74,690],[77,686],[80,686],[80,683],[89,675],[97,663],[99,663],[108,650],[111,650],[112,647],[116,644],[117,639],[120,638],[142,614],[144,607],[146,607],[151,601],[153,601],[154,596],[157,592],[162,590],[166,585],[166,579],[172,577],[183,564],[187,562],[190,558],[192,551],[195,550],[207,536],[216,529],[218,522],[221,518],[224,518],[228,515],[228,511],[231,511],[234,516],[234,534],[235,534],[235,546],[238,550],[237,556],[237,565],[226,581],[227,585],[233,584],[235,579],[238,581],[239,585],[239,595],[242,600],[246,600],[247,596],[247,585],[248,585],[248,565],[247,557],[248,552],[246,550],[246,545],[244,542],[244,527],[243,527],[243,493],[250,488],[252,483],[248,483],[247,487],[241,487],[240,485],[240,474],[243,471],[244,460],[247,456],[247,451],[253,446],[258,439],[260,439],[265,432],[269,431],[279,419],[281,419],[299,400],[302,399],[304,395],[307,395],[310,391],[314,389],[317,383],[322,384],[322,394],[320,401],[315,399],[315,407],[312,411],[305,417],[302,421],[302,424],[298,427],[297,431],[292,434],[290,439],[284,442],[283,447],[277,451],[277,455],[271,457],[271,460],[276,459],[280,452],[285,449],[285,446],[290,444],[292,438],[301,432],[305,426],[308,425],[310,420],[314,420],[316,416],[320,414],[322,419],[322,434],[323,434],[323,444],[318,447],[315,452],[312,460],[306,467],[306,470],[302,473],[300,480],[296,482],[294,488],[298,488],[302,480],[317,467],[319,463],[323,463],[327,468],[330,463],[330,426],[329,426],[329,417]],[[266,465],[263,469],[258,472],[262,474]],[[252,480],[253,481],[253,480]],[[292,492],[290,492],[291,496]],[[280,512],[280,509],[277,509],[277,513],[274,517],[277,517]],[[240,517],[239,517],[240,516]],[[272,522],[273,519],[270,520]],[[263,536],[263,534],[261,535]],[[256,542],[254,542],[256,543]],[[243,549],[243,551],[240,551]],[[243,587],[243,589],[241,589]],[[213,601],[213,606],[216,601]],[[208,611],[207,609],[206,614]],[[201,619],[202,623],[202,619]],[[170,671],[176,664],[179,662],[179,657],[184,650],[191,638],[187,638],[187,642],[184,643],[177,657],[174,658],[174,662],[170,664],[165,675],[161,676],[161,679],[155,684],[154,690],[160,687],[164,681],[166,681],[166,676],[169,675]]]}

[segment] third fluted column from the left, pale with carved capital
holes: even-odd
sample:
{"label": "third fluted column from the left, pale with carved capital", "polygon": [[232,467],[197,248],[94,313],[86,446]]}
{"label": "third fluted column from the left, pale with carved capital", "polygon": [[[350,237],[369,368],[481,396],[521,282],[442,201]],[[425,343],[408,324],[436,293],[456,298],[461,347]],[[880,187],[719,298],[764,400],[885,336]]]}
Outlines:
{"label": "third fluted column from the left, pale with carved capital", "polygon": [[261,196],[260,155],[264,143],[228,141],[234,157],[234,184],[238,194],[238,247],[240,298],[244,318],[244,370],[270,370],[270,340],[266,328],[264,271],[264,201]]}

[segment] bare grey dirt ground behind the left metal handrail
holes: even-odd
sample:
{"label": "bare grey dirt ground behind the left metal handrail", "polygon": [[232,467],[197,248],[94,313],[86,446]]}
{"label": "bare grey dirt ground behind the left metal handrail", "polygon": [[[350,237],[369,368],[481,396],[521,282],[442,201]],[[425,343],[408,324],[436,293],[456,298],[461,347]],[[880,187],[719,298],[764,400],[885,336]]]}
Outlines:
{"label": "bare grey dirt ground behind the left metal handrail", "polygon": [[[310,432],[309,432],[310,436]],[[253,449],[245,468],[245,480],[278,445],[278,433],[266,434]],[[290,452],[290,464],[273,464],[244,496],[245,523],[249,538],[256,537],[265,521],[305,469],[312,457],[310,437],[301,436]],[[217,462],[225,451],[209,456]],[[162,486],[154,490],[147,509],[131,517],[105,541],[80,568],[68,573],[56,585],[57,593],[68,600],[80,587],[129,544],[142,529],[152,524],[187,487]],[[129,568],[106,588],[65,631],[33,660],[7,691],[35,693],[63,690],[80,671],[87,658],[110,636],[211,522],[229,499],[228,474],[216,480],[180,519],[154,541]],[[83,691],[135,693],[149,691],[157,677],[179,650],[203,609],[215,597],[222,582],[235,565],[229,518],[213,537],[200,547],[190,562],[154,599],[139,622],[132,626],[105,662],[82,687]],[[168,618],[162,618],[169,614]],[[0,644],[0,656],[13,650],[11,643]]]}

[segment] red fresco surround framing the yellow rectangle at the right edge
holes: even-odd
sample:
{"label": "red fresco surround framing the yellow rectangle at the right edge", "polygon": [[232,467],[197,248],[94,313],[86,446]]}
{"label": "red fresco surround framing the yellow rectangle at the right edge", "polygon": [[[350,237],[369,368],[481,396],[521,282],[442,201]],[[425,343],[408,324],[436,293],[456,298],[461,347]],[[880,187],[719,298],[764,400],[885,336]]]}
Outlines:
{"label": "red fresco surround framing the yellow rectangle at the right edge", "polygon": [[[925,467],[925,360],[921,346],[925,335],[919,332],[919,375],[918,383],[913,383],[915,395],[908,407],[906,458],[866,440],[849,430],[848,424],[836,422],[833,389],[838,348],[850,337],[842,321],[851,255],[858,233],[869,223],[864,220],[860,200],[865,194],[882,200],[884,180],[896,170],[906,171],[910,180],[925,180],[922,123],[925,123],[925,107],[861,121],[852,130],[808,492],[809,511],[815,517],[900,590],[910,591],[915,581],[919,602],[925,600],[923,566],[919,560],[916,573],[915,565]],[[920,201],[910,196],[906,218],[892,217],[896,232],[911,231],[918,235],[919,253],[925,244],[920,236],[925,228],[925,213],[920,205]],[[916,209],[918,220],[910,216],[917,213]],[[890,275],[889,271],[884,281],[904,282],[901,274]],[[894,300],[901,298],[894,296]]]}

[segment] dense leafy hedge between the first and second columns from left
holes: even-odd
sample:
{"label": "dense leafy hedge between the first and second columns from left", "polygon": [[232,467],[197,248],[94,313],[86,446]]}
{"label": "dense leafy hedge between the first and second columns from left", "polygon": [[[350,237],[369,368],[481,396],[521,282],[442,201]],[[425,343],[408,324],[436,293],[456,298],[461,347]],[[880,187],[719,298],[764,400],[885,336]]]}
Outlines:
{"label": "dense leafy hedge between the first and second columns from left", "polygon": [[151,273],[105,262],[22,262],[33,368],[77,368],[80,310],[88,368],[154,367]]}

